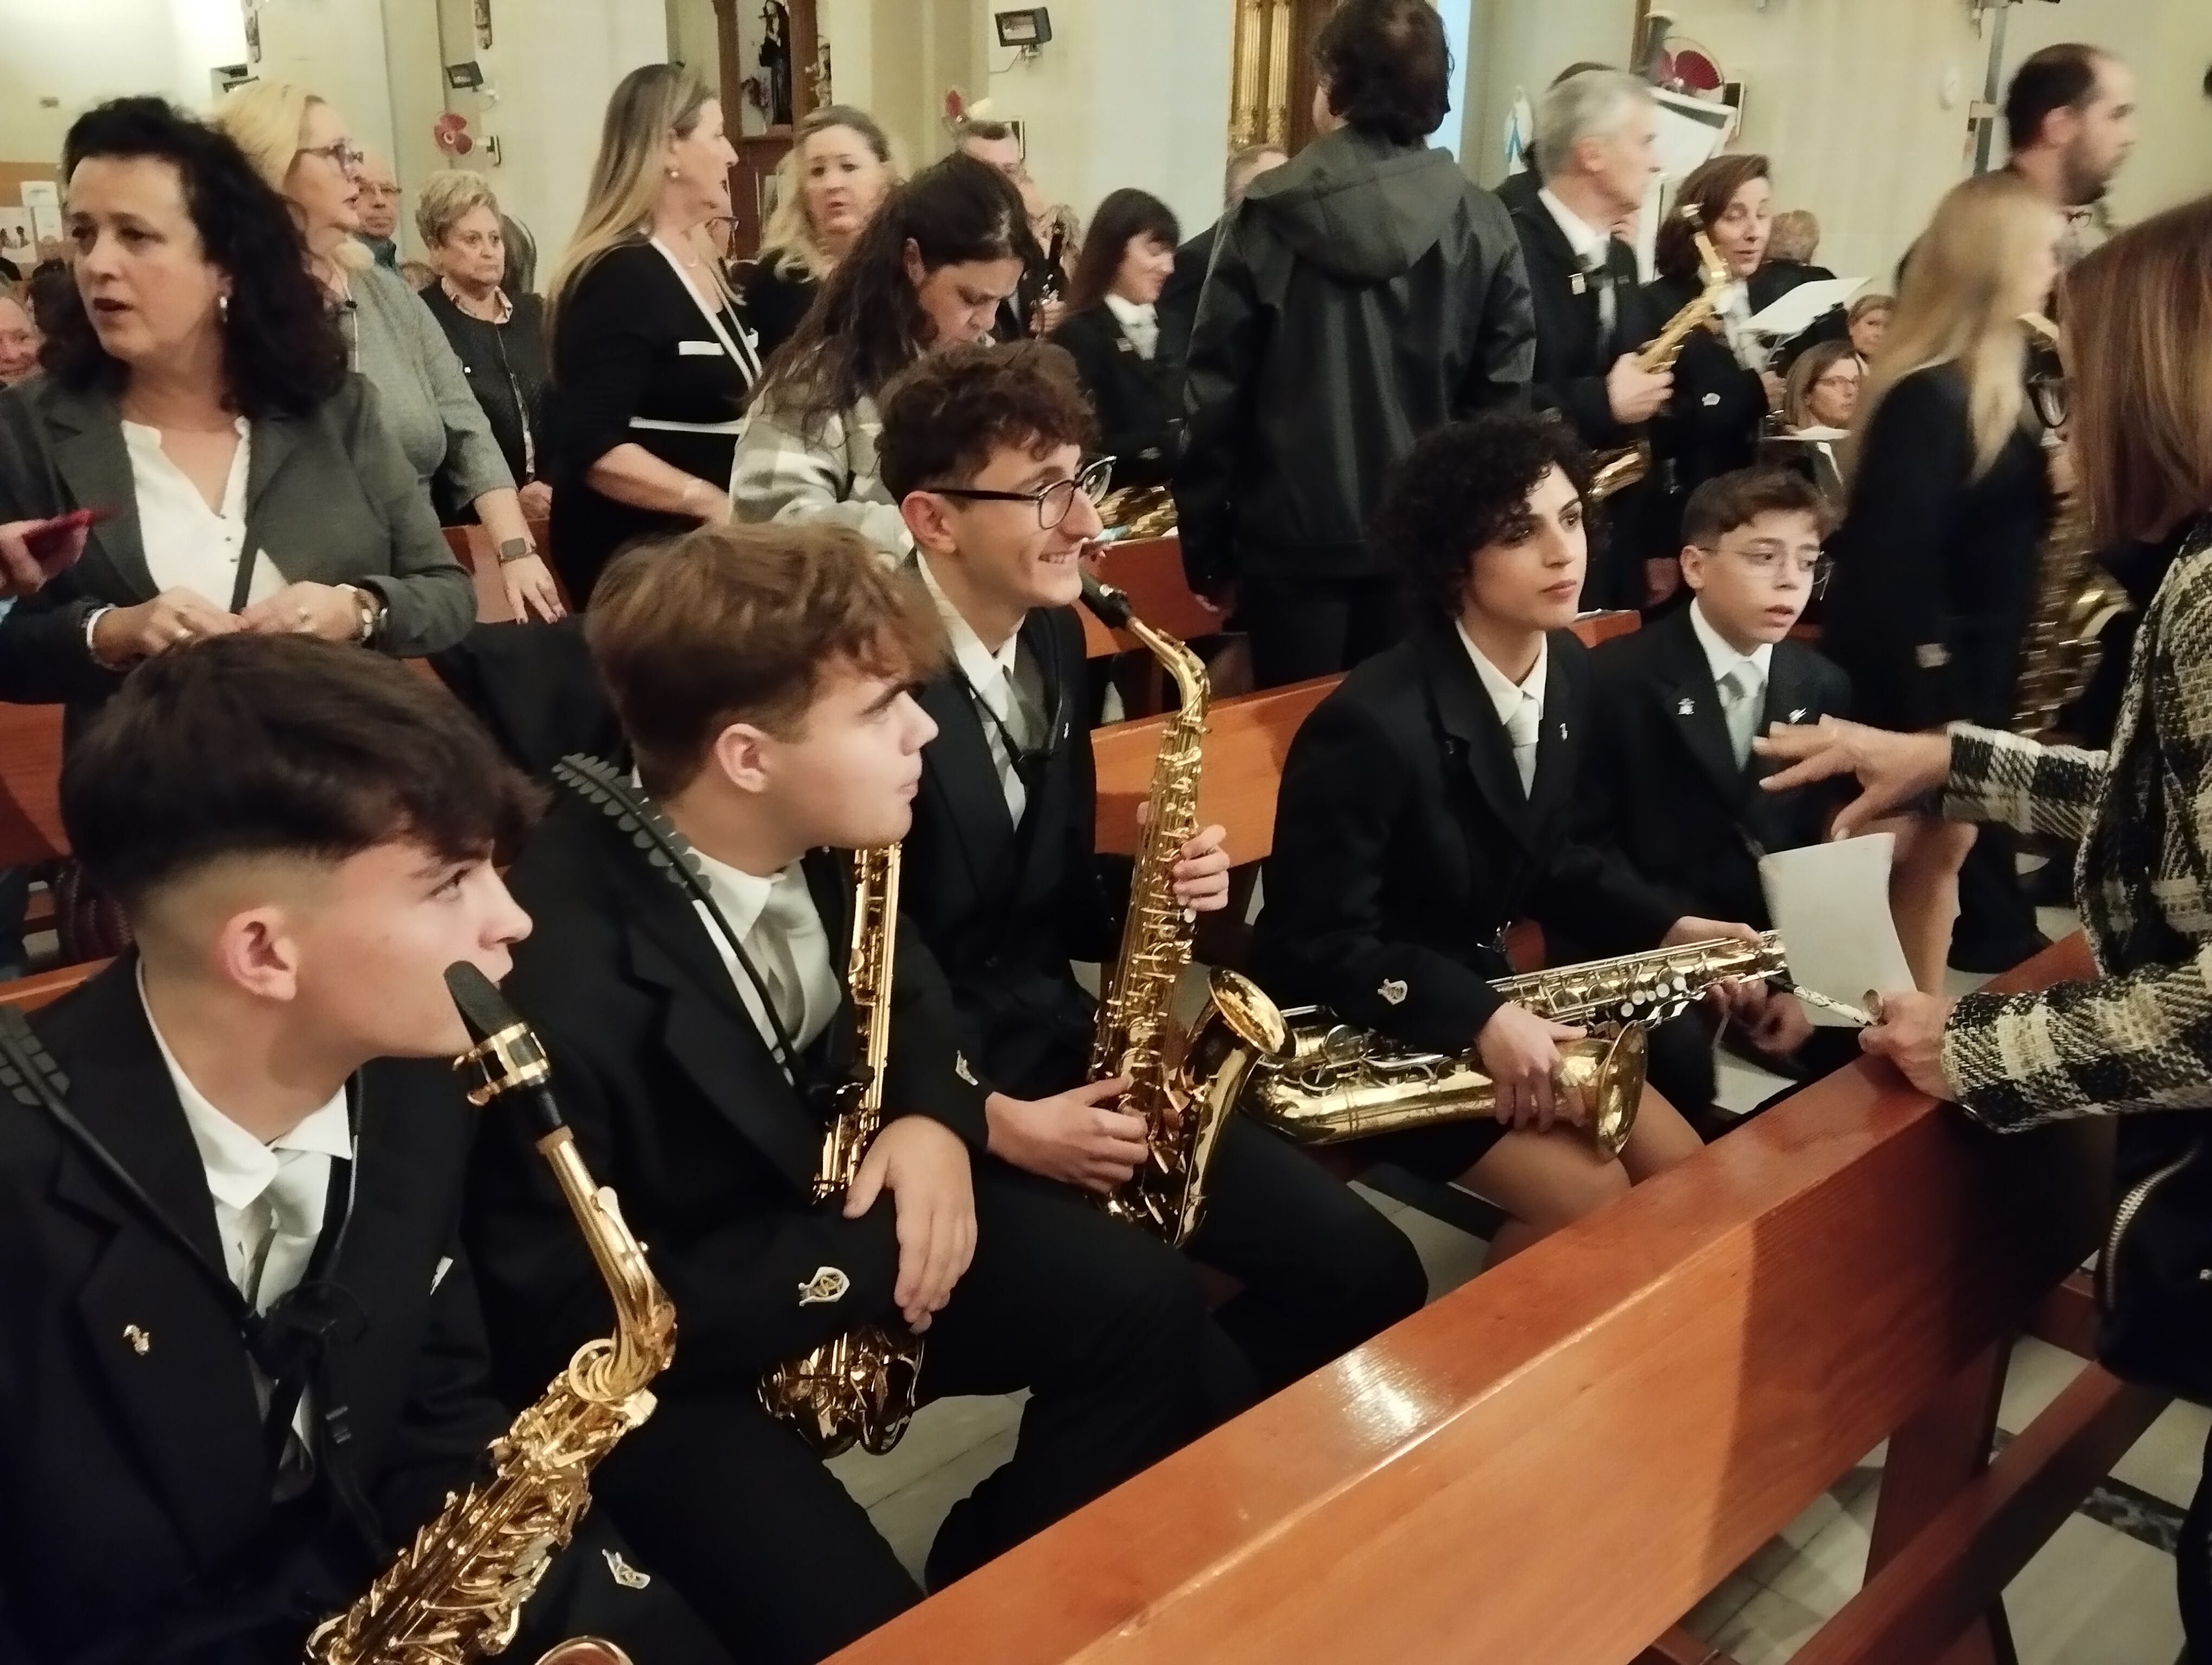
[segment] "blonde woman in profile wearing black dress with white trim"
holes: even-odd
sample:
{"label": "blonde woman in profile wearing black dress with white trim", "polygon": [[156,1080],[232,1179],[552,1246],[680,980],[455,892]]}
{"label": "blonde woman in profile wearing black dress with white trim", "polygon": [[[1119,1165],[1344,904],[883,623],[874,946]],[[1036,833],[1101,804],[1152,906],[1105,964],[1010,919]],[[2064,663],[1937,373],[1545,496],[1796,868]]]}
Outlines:
{"label": "blonde woman in profile wearing black dress with white trim", "polygon": [[584,606],[633,537],[730,517],[730,458],[761,374],[708,226],[737,150],[681,64],[622,77],[575,239],[546,283],[553,559]]}

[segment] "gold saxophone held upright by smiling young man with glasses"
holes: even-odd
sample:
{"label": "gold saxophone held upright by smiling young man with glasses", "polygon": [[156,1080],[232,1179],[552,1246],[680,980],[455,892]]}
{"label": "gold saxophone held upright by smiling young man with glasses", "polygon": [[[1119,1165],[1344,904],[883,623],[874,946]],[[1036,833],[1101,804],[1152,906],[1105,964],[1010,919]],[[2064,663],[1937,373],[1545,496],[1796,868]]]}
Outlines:
{"label": "gold saxophone held upright by smiling young man with glasses", "polygon": [[1175,679],[1175,721],[1152,765],[1152,809],[1137,840],[1121,949],[1099,991],[1091,1079],[1126,1075],[1130,1088],[1119,1108],[1144,1117],[1146,1128],[1144,1167],[1106,1198],[1106,1212],[1181,1245],[1206,1212],[1206,1167],[1221,1123],[1237,1110],[1254,1066],[1285,1053],[1287,1026],[1259,984],[1223,968],[1208,977],[1197,1022],[1188,1030],[1175,1022],[1192,938],[1192,915],[1175,900],[1175,862],[1199,829],[1212,692],[1199,657],[1139,619],[1121,590],[1084,573],[1084,604],[1137,637]]}

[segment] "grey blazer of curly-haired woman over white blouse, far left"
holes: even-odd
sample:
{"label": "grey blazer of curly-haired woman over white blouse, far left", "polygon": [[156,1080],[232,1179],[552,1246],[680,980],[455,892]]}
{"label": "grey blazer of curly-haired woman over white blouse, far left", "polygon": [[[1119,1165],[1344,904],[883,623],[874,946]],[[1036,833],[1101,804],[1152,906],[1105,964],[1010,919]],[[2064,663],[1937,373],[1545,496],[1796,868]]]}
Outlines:
{"label": "grey blazer of curly-haired woman over white blouse, far left", "polygon": [[[113,509],[115,517],[93,526],[75,566],[0,621],[0,699],[106,701],[122,679],[86,652],[84,615],[155,597],[115,394],[75,391],[51,376],[0,389],[0,522],[71,509]],[[288,579],[376,590],[389,608],[383,652],[438,652],[476,624],[469,573],[358,376],[312,416],[252,425],[246,546],[265,551]],[[208,599],[230,606],[228,595]]]}

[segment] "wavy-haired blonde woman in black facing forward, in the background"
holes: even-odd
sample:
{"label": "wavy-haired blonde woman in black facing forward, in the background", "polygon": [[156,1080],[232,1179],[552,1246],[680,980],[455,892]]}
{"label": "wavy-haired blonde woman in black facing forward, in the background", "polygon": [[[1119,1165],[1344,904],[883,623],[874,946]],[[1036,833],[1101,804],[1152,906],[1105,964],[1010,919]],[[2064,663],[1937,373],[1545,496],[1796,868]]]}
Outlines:
{"label": "wavy-haired blonde woman in black facing forward, in the background", "polygon": [[776,212],[761,232],[761,254],[739,283],[761,363],[792,338],[823,279],[896,184],[891,142],[867,111],[827,104],[799,124],[776,168]]}

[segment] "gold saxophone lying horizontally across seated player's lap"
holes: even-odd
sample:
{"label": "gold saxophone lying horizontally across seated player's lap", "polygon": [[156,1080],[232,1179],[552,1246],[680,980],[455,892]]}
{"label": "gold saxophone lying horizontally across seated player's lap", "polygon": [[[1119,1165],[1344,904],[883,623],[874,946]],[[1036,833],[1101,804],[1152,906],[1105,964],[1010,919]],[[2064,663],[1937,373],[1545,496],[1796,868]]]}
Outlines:
{"label": "gold saxophone lying horizontally across seated player's lap", "polygon": [[[1619,1156],[1644,1099],[1648,1026],[1723,982],[1763,982],[1787,968],[1781,938],[1767,931],[1759,942],[1690,942],[1502,977],[1491,988],[1555,1024],[1608,1030],[1562,1044],[1559,1066],[1582,1095],[1590,1139]],[[1321,1006],[1285,1017],[1292,1055],[1254,1072],[1245,1110],[1301,1145],[1471,1121],[1498,1108],[1498,1090],[1475,1053],[1420,1053]]]}

